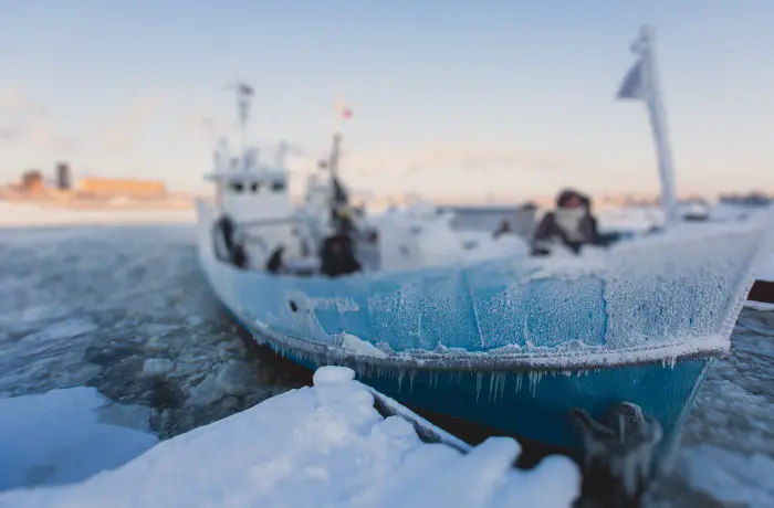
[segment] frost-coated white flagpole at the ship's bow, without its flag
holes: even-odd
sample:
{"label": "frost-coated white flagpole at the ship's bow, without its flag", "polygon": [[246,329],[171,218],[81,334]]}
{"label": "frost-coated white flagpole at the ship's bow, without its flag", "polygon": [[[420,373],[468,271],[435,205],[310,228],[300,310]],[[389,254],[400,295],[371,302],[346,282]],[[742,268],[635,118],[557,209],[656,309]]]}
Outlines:
{"label": "frost-coated white flagpole at the ship's bow, without its flag", "polygon": [[661,86],[656,66],[656,33],[652,27],[642,27],[640,42],[642,43],[642,86],[650,117],[650,128],[656,145],[659,176],[661,179],[661,207],[663,208],[666,227],[671,227],[678,221],[677,192],[674,186],[674,168],[667,129],[667,110],[661,98]]}

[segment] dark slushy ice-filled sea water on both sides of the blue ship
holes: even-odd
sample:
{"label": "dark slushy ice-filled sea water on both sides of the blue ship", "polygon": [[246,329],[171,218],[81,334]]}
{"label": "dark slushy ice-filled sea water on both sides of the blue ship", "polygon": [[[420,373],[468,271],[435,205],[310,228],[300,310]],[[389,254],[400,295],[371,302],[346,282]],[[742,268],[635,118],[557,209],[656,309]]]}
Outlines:
{"label": "dark slushy ice-filled sea water on both sides of the blue ship", "polygon": [[[0,398],[93,387],[168,438],[311,383],[249,345],[190,225],[0,230]],[[648,506],[774,506],[773,377],[774,311],[745,308]]]}

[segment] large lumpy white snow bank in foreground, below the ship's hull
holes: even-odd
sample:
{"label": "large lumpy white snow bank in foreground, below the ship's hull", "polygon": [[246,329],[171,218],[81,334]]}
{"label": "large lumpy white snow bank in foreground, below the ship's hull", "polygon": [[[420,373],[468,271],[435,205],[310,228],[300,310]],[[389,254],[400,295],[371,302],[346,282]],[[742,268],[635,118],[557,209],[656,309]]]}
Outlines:
{"label": "large lumpy white snow bank in foreground, below the ship's hull", "polygon": [[74,486],[15,490],[0,507],[502,507],[571,506],[579,474],[565,457],[511,464],[519,444],[492,437],[461,454],[422,443],[381,417],[349,369],[324,367],[314,387],[158,444]]}

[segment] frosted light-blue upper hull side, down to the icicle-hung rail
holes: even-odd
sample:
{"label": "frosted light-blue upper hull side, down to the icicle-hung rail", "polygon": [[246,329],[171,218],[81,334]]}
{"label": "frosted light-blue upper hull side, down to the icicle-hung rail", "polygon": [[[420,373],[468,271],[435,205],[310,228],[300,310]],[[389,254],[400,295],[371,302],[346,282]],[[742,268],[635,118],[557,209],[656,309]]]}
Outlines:
{"label": "frosted light-blue upper hull side, down to the icicle-hung rail", "polygon": [[[500,260],[337,279],[236,271],[206,253],[202,264],[240,319],[297,338],[280,346],[302,354],[485,371],[668,366],[728,350],[762,233],[713,230],[590,258]],[[339,348],[342,334],[373,348]]]}

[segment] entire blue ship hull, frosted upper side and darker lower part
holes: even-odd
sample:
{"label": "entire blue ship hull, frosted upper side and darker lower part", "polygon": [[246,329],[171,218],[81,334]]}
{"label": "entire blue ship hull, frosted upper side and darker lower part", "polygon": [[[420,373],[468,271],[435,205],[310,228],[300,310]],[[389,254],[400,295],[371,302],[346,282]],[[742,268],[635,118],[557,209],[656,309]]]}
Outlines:
{"label": "entire blue ship hull, frosted upper side and darker lower part", "polygon": [[[638,242],[604,263],[519,260],[322,277],[200,257],[258,340],[307,367],[345,364],[417,409],[579,449],[571,412],[628,401],[661,424],[662,458],[730,334],[761,257],[760,229]],[[668,248],[667,248],[668,247]],[[552,264],[553,263],[553,264]]]}

